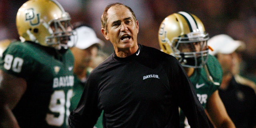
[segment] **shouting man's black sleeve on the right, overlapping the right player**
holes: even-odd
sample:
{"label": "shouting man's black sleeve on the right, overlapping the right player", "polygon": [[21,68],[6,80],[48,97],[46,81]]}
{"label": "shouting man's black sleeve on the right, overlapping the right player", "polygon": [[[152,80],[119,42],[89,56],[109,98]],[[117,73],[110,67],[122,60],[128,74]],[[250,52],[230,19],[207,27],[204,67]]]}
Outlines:
{"label": "shouting man's black sleeve on the right, overlapping the right player", "polygon": [[196,91],[190,82],[184,68],[177,61],[173,62],[172,80],[174,90],[177,93],[178,105],[188,118],[191,128],[210,128],[208,118],[200,104]]}

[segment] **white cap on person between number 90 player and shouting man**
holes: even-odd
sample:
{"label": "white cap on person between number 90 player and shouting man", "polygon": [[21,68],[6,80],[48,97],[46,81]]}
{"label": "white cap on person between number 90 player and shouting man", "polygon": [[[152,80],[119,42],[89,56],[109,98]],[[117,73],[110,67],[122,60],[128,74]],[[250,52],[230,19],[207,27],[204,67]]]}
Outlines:
{"label": "white cap on person between number 90 player and shouting man", "polygon": [[[98,44],[100,47],[104,46],[104,42],[96,36],[96,33],[92,28],[88,26],[80,26],[75,30],[77,33],[76,48],[86,49],[93,44]],[[74,40],[74,37],[70,37],[70,40]]]}

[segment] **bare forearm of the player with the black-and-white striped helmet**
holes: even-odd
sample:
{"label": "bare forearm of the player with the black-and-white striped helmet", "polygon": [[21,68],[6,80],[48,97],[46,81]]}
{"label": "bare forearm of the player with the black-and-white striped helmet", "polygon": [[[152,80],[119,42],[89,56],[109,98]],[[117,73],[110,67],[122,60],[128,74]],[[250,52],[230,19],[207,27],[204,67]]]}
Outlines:
{"label": "bare forearm of the player with the black-and-white striped helmet", "polygon": [[206,103],[206,110],[216,128],[236,128],[216,90]]}

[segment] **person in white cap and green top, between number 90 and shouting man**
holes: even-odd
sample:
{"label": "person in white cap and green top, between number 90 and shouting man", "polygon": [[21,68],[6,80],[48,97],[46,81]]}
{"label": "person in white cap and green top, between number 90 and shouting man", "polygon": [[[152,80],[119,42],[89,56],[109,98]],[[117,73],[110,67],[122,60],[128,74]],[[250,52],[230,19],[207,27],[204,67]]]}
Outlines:
{"label": "person in white cap and green top, between number 90 and shouting man", "polygon": [[[95,64],[96,60],[98,60],[97,58],[99,58],[99,50],[104,46],[104,42],[96,36],[96,32],[89,26],[77,22],[74,24],[74,30],[76,30],[77,33],[77,42],[74,47],[70,48],[75,58],[74,88],[73,96],[70,100],[70,111],[74,110],[78,105],[90,71],[100,63],[97,62],[97,64]],[[71,41],[72,40],[76,39],[71,38]],[[100,53],[104,54],[104,52]],[[99,123],[96,124],[96,128],[103,127],[102,119],[100,119],[101,118],[99,118]]]}

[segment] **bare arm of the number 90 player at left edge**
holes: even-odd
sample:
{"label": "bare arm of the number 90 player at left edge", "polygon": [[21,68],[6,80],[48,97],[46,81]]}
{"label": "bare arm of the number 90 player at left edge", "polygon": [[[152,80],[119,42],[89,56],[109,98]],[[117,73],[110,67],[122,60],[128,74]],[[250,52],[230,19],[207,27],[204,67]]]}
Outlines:
{"label": "bare arm of the number 90 player at left edge", "polygon": [[20,128],[12,109],[26,91],[26,80],[0,70],[0,128]]}

